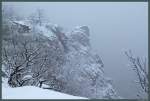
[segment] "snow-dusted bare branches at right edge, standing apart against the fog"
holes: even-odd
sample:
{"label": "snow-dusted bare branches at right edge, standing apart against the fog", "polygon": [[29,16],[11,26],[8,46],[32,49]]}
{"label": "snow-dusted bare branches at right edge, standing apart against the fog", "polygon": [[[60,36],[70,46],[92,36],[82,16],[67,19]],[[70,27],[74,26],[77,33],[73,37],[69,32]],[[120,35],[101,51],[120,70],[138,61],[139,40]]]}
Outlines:
{"label": "snow-dusted bare branches at right edge, standing apart against the fog", "polygon": [[131,50],[126,51],[125,55],[128,57],[131,62],[131,67],[135,71],[138,77],[138,84],[140,84],[143,92],[148,93],[148,66],[147,59],[142,59],[140,57],[134,57]]}

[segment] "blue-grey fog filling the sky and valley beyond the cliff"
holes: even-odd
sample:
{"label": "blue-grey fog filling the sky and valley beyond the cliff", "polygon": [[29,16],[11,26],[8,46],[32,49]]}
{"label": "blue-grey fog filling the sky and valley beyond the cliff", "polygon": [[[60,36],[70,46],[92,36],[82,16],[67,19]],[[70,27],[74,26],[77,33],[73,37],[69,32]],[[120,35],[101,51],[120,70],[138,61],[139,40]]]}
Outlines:
{"label": "blue-grey fog filling the sky and valley beyond the cliff", "polygon": [[135,56],[148,57],[147,2],[5,2],[22,16],[43,9],[52,22],[68,30],[78,25],[90,28],[91,45],[102,57],[105,75],[124,98],[136,98],[135,72],[124,54],[131,49]]}

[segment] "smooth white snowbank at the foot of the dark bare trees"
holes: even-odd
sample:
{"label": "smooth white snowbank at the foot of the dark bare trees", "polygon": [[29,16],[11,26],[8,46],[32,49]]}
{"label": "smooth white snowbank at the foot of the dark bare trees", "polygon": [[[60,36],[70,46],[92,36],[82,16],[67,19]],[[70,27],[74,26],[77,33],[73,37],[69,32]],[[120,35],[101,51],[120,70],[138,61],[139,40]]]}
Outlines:
{"label": "smooth white snowbank at the foot of the dark bare trees", "polygon": [[87,99],[33,86],[10,88],[2,83],[2,99]]}

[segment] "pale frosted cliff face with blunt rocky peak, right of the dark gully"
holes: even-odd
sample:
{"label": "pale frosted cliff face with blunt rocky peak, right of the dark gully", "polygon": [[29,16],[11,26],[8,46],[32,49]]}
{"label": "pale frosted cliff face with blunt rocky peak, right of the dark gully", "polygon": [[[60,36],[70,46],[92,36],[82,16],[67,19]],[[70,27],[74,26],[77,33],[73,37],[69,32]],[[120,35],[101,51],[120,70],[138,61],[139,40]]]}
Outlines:
{"label": "pale frosted cliff face with blunt rocky peak, right of the dark gully", "polygon": [[88,26],[76,27],[67,34],[56,29],[54,33],[67,51],[62,72],[67,82],[64,92],[89,98],[118,98],[104,75],[101,58],[91,51]]}

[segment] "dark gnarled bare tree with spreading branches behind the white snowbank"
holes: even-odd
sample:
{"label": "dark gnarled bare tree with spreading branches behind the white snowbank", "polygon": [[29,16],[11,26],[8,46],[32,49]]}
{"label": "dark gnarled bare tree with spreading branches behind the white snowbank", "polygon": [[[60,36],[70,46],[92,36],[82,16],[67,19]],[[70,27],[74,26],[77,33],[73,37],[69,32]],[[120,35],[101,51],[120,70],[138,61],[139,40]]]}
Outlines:
{"label": "dark gnarled bare tree with spreading branches behind the white snowbank", "polygon": [[[36,41],[36,43],[38,43]],[[36,69],[42,68],[45,63],[46,55],[43,56],[42,47],[36,46],[33,40],[19,36],[13,37],[7,46],[3,47],[3,64],[7,67],[9,85],[23,86],[29,79],[24,78],[29,75],[31,70],[36,66]],[[44,60],[44,61],[42,61]],[[35,61],[39,63],[39,67]],[[42,68],[44,69],[44,68]],[[38,69],[40,72],[43,70]]]}

